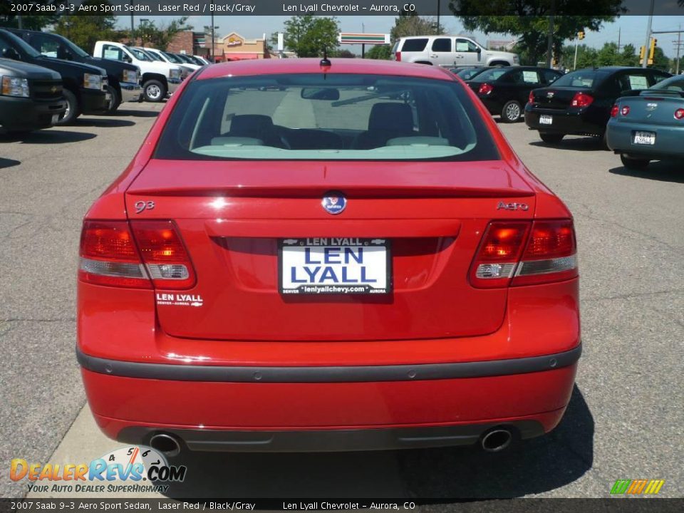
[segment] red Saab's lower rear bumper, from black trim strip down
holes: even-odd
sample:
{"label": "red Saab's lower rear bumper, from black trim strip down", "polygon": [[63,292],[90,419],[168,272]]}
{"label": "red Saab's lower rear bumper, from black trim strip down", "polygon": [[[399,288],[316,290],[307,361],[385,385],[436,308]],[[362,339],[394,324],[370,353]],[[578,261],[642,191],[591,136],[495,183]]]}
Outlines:
{"label": "red Saab's lower rear bumper, from black trim strip down", "polygon": [[541,435],[564,413],[580,353],[351,368],[78,359],[109,437],[142,443],[171,432],[197,450],[300,451],[470,444],[499,425]]}

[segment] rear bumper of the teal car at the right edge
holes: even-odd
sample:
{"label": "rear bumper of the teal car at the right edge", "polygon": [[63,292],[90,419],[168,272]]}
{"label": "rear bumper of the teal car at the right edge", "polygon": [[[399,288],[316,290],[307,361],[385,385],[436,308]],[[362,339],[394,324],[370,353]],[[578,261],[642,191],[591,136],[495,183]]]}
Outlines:
{"label": "rear bumper of the teal car at the right edge", "polygon": [[[654,145],[634,144],[634,133],[655,133]],[[668,127],[656,126],[643,123],[608,123],[606,131],[606,144],[616,153],[622,153],[631,157],[667,158],[684,157],[684,126]]]}

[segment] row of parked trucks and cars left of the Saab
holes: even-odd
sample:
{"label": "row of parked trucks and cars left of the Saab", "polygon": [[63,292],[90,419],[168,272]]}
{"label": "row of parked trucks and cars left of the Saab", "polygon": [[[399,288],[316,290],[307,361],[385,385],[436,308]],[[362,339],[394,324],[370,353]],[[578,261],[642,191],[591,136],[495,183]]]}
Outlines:
{"label": "row of parked trucks and cars left of the Saab", "polygon": [[162,101],[207,64],[114,41],[98,41],[90,56],[58,34],[0,29],[0,128],[40,130],[81,114],[113,114],[127,101]]}

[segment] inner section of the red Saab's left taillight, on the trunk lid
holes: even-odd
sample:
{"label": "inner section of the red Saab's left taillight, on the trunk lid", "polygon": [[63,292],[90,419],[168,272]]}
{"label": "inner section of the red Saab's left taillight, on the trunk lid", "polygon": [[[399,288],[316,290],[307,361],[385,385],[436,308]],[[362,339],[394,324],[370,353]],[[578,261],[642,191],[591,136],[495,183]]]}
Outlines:
{"label": "inner section of the red Saab's left taillight, on the trunk lid", "polygon": [[157,289],[190,289],[195,270],[172,221],[134,221],[133,236]]}

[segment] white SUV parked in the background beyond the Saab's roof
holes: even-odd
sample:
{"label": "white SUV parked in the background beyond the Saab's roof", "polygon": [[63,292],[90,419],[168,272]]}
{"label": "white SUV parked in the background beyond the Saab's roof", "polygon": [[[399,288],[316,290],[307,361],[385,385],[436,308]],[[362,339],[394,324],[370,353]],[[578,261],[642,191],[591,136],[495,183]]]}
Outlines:
{"label": "white SUV parked in the background beyond the Saab's roof", "polygon": [[464,36],[410,36],[392,48],[395,61],[434,66],[519,66],[517,53],[482,48]]}

